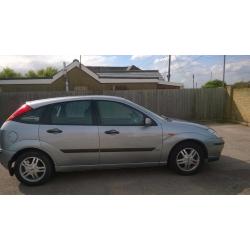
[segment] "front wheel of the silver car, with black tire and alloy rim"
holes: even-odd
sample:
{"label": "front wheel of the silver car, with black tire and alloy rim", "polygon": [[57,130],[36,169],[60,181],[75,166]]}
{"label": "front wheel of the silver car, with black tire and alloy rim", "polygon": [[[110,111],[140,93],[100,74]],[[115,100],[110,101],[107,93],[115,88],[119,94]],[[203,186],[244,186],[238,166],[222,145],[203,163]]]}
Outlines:
{"label": "front wheel of the silver car, with black tire and alloy rim", "polygon": [[183,142],[175,146],[169,156],[169,167],[181,175],[197,173],[204,163],[204,150],[195,142]]}

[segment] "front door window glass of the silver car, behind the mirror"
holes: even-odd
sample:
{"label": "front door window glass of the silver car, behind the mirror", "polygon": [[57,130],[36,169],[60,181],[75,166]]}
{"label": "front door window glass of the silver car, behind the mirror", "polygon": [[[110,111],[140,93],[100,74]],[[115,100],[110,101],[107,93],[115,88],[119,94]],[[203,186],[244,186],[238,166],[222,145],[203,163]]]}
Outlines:
{"label": "front door window glass of the silver car, behind the mirror", "polygon": [[97,105],[103,126],[144,125],[144,115],[132,107],[112,101],[98,101]]}

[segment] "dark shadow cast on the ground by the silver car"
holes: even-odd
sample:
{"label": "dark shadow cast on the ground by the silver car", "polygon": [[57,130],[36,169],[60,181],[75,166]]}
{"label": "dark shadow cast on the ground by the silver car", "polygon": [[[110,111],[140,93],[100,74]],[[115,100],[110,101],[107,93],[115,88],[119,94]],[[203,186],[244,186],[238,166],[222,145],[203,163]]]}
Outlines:
{"label": "dark shadow cast on the ground by the silver car", "polygon": [[164,167],[105,169],[57,173],[37,187],[19,184],[21,193],[32,195],[238,194],[249,187],[250,163],[228,156],[191,176]]}

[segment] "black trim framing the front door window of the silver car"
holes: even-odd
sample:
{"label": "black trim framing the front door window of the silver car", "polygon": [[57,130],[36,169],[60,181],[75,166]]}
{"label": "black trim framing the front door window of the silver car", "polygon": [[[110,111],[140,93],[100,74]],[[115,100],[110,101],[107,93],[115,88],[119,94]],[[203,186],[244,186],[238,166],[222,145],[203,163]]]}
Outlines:
{"label": "black trim framing the front door window of the silver car", "polygon": [[94,110],[94,115],[96,117],[96,121],[97,121],[98,126],[103,126],[103,127],[115,127],[115,126],[120,126],[120,127],[145,127],[145,124],[144,125],[127,125],[127,124],[104,125],[104,124],[102,124],[101,123],[101,115],[100,115],[99,107],[98,107],[98,102],[102,102],[102,101],[104,101],[104,102],[114,102],[114,103],[118,103],[118,104],[121,104],[123,106],[126,106],[128,108],[134,109],[134,110],[136,110],[137,112],[139,112],[139,113],[141,113],[143,115],[144,121],[145,121],[146,118],[151,119],[152,120],[152,125],[151,126],[158,126],[157,122],[153,118],[151,118],[150,116],[146,115],[142,111],[138,110],[137,108],[132,107],[131,105],[129,105],[127,103],[123,103],[123,102],[119,102],[119,101],[113,101],[113,100],[101,100],[101,99],[100,100],[93,100],[93,110]]}

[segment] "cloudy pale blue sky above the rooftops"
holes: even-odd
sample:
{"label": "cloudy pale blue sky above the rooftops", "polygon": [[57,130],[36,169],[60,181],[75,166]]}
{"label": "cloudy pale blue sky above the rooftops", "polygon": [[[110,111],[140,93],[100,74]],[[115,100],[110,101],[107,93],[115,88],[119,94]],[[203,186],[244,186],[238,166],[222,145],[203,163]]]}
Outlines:
{"label": "cloudy pale blue sky above the rooftops", "polygon": [[[35,55],[35,56],[0,56],[0,71],[10,67],[18,72],[25,73],[28,70],[37,70],[47,66],[61,69],[63,62],[79,60],[80,55]],[[84,65],[94,66],[128,66],[136,65],[141,69],[157,69],[163,76],[168,70],[168,56],[166,55],[82,55]],[[211,79],[222,79],[223,56],[222,55],[172,55],[171,56],[171,81],[184,84],[185,88],[191,88],[193,74],[195,84],[202,86]],[[228,84],[237,81],[250,80],[250,55],[227,55],[226,75]]]}

